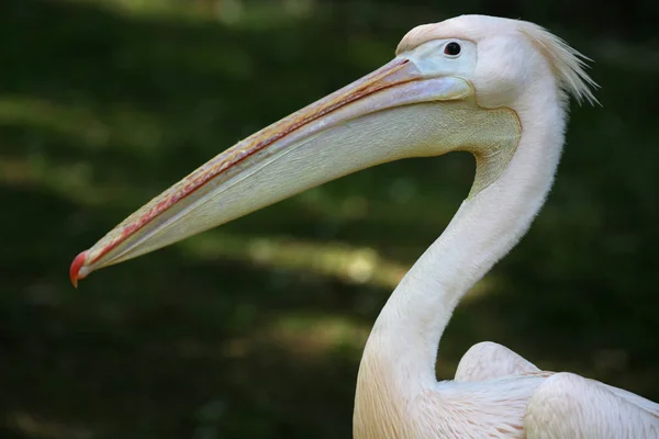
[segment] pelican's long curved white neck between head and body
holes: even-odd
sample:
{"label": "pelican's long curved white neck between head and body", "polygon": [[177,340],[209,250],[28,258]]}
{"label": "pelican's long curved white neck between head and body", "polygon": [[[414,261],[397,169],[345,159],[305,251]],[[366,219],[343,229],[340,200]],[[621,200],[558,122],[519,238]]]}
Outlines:
{"label": "pelican's long curved white neck between head and body", "polygon": [[[378,423],[371,417],[392,417],[395,425],[395,417],[404,417],[395,405],[436,383],[437,345],[454,308],[541,207],[560,158],[565,113],[556,101],[525,108],[524,132],[506,170],[462,203],[380,313],[359,369],[356,431],[358,425]],[[532,122],[537,120],[541,125]]]}

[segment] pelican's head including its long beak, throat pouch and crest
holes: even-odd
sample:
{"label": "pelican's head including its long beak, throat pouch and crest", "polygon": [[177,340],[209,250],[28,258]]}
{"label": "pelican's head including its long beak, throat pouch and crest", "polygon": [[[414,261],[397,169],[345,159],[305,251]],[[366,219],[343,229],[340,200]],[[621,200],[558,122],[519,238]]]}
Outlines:
{"label": "pelican's head including its long beak, throat pouch and crest", "polygon": [[581,59],[524,21],[463,15],[418,26],[390,63],[239,142],[137,210],[76,257],[71,281],[402,158],[472,153],[476,196],[534,123],[525,112],[562,108],[569,94],[593,100]]}

